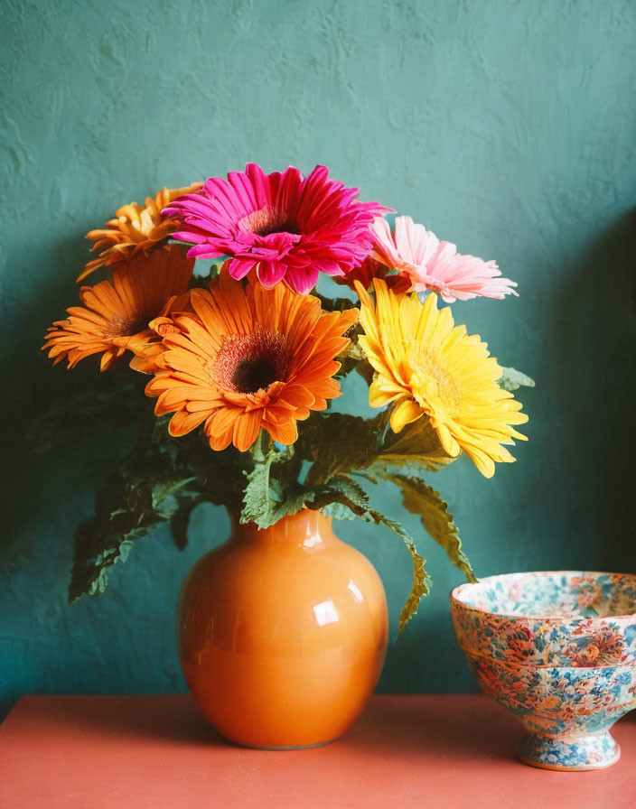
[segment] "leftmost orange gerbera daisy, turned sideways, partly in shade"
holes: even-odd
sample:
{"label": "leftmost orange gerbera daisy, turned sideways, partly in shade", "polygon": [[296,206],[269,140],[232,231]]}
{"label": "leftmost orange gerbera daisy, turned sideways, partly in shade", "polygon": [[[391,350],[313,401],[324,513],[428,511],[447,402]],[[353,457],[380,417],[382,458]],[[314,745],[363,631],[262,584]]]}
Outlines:
{"label": "leftmost orange gerbera daisy, turned sideways, partly in shade", "polygon": [[69,367],[101,353],[102,371],[114,366],[126,350],[144,358],[147,346],[160,340],[148,323],[187,305],[193,266],[194,259],[185,258],[177,245],[136,256],[116,268],[112,284],[82,286],[83,306],[71,306],[69,318],[53,323],[42,349],[49,349],[54,364],[68,358]]}

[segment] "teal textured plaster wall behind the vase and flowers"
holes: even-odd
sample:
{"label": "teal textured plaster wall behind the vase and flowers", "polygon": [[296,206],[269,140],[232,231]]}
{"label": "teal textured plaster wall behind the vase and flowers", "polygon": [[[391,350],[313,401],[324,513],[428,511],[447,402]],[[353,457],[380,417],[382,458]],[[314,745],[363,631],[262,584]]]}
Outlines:
{"label": "teal textured plaster wall behind the vase and flowers", "polygon": [[[89,384],[39,353],[74,301],[82,237],[129,200],[246,161],[326,163],[496,258],[520,298],[454,304],[504,365],[537,379],[518,462],[435,480],[480,575],[636,568],[633,544],[636,5],[579,2],[4,0],[0,172],[3,531],[0,695],[184,689],[173,612],[226,535],[201,508],[190,545],[140,541],[107,592],[69,607],[72,532],[117,463],[99,420],[49,455],[23,441],[51,399]],[[352,406],[365,405],[361,385]],[[69,414],[73,419],[73,414]],[[398,497],[381,506],[400,514]],[[435,585],[389,648],[385,691],[472,689],[448,592],[461,581],[415,518]],[[386,530],[339,525],[376,564],[392,626],[410,563]]]}

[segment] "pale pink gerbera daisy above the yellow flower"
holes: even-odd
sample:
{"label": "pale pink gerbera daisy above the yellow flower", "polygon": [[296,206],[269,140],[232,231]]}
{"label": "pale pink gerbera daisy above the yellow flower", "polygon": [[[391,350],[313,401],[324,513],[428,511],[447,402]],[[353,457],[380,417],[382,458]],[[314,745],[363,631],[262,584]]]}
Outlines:
{"label": "pale pink gerbera daisy above the yellow flower", "polygon": [[375,219],[371,226],[374,237],[371,256],[390,269],[397,269],[411,280],[416,292],[431,290],[446,302],[468,301],[481,295],[503,298],[517,286],[501,278],[494,261],[476,256],[462,256],[450,242],[440,241],[424,225],[416,225],[410,217],[396,217],[392,234],[386,219]]}

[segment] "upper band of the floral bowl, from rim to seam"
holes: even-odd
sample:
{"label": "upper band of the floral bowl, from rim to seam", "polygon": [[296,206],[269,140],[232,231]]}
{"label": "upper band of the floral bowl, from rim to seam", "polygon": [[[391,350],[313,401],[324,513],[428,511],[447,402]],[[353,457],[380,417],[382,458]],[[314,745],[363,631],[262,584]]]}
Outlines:
{"label": "upper band of the floral bowl, from rim to seam", "polygon": [[636,576],[512,573],[451,598],[464,651],[533,665],[636,663]]}

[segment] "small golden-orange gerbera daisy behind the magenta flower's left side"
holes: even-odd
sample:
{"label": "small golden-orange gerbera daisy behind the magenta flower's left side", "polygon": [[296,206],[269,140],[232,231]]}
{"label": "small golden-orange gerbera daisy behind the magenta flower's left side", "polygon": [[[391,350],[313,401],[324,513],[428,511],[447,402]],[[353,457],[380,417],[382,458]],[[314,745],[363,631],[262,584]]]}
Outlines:
{"label": "small golden-orange gerbera daisy behind the magenta flower's left side", "polygon": [[117,210],[115,219],[109,219],[104,228],[91,230],[86,237],[94,241],[92,251],[99,251],[98,258],[89,261],[78,281],[104,265],[128,261],[139,253],[147,253],[159,246],[176,230],[178,219],[162,217],[166,205],[182,197],[199,191],[201,182],[193,182],[185,188],[158,191],[154,200],[147,197],[145,205],[130,202]]}

